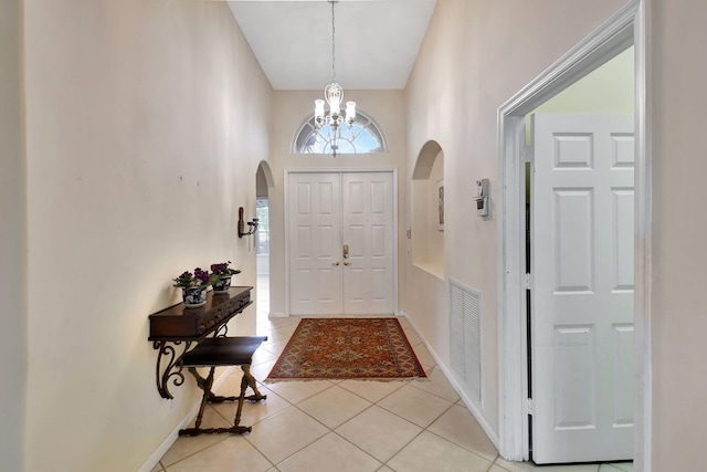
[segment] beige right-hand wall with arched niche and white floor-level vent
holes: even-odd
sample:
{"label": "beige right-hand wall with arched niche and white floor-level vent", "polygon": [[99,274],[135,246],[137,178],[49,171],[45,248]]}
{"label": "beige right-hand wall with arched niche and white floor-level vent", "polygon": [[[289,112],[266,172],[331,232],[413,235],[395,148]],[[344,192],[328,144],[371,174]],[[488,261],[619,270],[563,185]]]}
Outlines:
{"label": "beige right-hand wall with arched niche and white floor-level vent", "polygon": [[[408,84],[408,178],[424,143],[437,141],[444,151],[445,275],[482,294],[483,403],[475,407],[492,437],[498,434],[497,109],[623,4],[440,0]],[[473,211],[482,178],[490,180],[488,220]],[[449,366],[446,284],[411,264],[405,270],[404,308]]]}

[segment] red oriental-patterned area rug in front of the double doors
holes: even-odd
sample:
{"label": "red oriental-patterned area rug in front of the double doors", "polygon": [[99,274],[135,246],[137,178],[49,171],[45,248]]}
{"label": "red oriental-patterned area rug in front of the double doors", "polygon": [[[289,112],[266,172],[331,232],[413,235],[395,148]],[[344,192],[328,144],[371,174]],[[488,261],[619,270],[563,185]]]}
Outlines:
{"label": "red oriental-patterned area rug in front of the double doors", "polygon": [[426,377],[395,318],[303,318],[267,380]]}

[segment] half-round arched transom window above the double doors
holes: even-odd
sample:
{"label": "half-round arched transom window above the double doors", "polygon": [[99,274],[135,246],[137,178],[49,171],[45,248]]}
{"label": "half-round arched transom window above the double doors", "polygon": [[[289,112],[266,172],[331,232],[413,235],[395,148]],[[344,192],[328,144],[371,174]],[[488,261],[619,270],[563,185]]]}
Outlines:
{"label": "half-round arched transom window above the double doors", "polygon": [[359,111],[356,112],[354,126],[349,129],[348,126],[342,125],[339,136],[335,136],[334,129],[329,125],[317,129],[313,116],[299,128],[293,145],[295,154],[338,155],[384,153],[387,150],[383,135],[376,123]]}

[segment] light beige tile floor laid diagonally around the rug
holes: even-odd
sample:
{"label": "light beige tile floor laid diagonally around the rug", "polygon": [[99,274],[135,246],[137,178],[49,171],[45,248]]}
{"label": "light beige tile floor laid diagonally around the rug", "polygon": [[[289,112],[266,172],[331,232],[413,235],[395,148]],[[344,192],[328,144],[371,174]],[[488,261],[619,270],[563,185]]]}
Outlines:
{"label": "light beige tile floor laid diagonally around the rug", "polygon": [[[257,334],[268,340],[252,365],[265,379],[298,318],[267,319],[266,285],[258,281]],[[262,384],[265,401],[245,403],[243,436],[179,438],[154,472],[632,472],[632,463],[538,468],[498,457],[407,319],[401,324],[429,380],[315,380]],[[241,369],[217,390],[238,392]],[[209,406],[204,427],[228,427],[235,405]]]}

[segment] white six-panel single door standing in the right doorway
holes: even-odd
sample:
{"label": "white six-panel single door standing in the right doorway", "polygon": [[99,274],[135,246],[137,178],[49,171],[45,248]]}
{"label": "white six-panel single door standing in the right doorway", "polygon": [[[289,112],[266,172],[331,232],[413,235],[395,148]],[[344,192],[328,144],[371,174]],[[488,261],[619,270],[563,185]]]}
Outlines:
{"label": "white six-panel single door standing in the right doorway", "polygon": [[535,115],[532,459],[631,459],[633,116]]}

